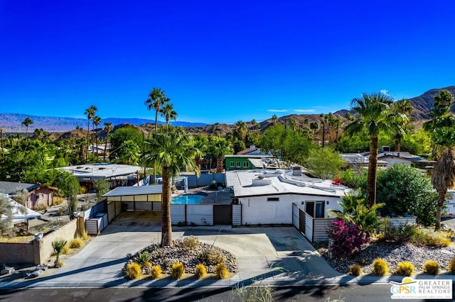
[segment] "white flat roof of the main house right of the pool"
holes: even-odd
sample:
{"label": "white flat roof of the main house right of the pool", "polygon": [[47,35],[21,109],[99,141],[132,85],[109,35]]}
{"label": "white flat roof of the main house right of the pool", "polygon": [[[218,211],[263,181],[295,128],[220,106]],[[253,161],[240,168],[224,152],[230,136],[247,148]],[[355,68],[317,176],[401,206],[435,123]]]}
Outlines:
{"label": "white flat roof of the main house right of the pool", "polygon": [[304,174],[293,176],[291,170],[282,169],[227,171],[226,186],[233,189],[235,197],[280,194],[341,197],[352,191],[347,186],[332,184],[331,180]]}

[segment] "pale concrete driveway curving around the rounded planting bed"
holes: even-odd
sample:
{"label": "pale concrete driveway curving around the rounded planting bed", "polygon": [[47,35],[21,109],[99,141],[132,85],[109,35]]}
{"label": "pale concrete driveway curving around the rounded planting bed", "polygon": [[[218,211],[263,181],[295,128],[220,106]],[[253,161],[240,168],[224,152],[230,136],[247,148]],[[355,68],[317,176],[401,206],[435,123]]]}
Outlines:
{"label": "pale concrete driveway curving around the rounded planting bed", "polygon": [[293,227],[231,228],[230,226],[173,228],[173,238],[196,236],[215,244],[237,258],[239,272],[230,279],[175,281],[170,278],[127,280],[122,268],[126,255],[158,243],[159,225],[114,223],[95,237],[77,255],[63,259],[65,265],[36,280],[3,284],[8,287],[92,287],[92,286],[235,286],[259,282],[270,285],[320,284],[340,276]]}

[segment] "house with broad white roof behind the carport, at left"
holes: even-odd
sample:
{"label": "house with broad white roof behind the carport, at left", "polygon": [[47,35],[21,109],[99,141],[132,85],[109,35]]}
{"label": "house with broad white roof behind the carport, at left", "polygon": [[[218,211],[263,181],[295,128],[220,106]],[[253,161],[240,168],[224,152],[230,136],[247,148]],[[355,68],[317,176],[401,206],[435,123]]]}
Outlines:
{"label": "house with broad white roof behind the carport, at left", "polygon": [[110,182],[111,189],[117,186],[132,186],[137,184],[139,172],[144,168],[130,166],[129,164],[79,164],[77,166],[58,168],[70,172],[79,181],[81,186],[87,187],[89,191],[94,189],[93,181],[105,179]]}

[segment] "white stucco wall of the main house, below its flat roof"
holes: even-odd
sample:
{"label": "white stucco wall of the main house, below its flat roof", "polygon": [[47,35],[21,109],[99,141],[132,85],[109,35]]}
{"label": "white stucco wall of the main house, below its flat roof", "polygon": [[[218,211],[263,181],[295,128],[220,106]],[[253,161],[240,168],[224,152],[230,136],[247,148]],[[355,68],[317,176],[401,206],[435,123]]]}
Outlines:
{"label": "white stucco wall of the main house, below its flat roof", "polygon": [[[268,197],[279,197],[279,201],[267,201]],[[338,201],[341,198],[330,196],[304,196],[304,195],[272,195],[239,198],[242,203],[242,224],[266,224],[266,223],[292,223],[292,203],[300,208],[302,201],[326,201],[324,206],[325,217],[328,217],[329,209],[339,209]],[[328,204],[327,204],[328,201]]]}

